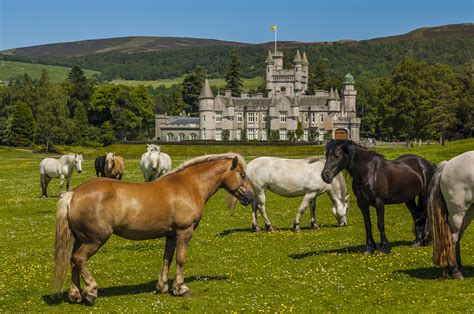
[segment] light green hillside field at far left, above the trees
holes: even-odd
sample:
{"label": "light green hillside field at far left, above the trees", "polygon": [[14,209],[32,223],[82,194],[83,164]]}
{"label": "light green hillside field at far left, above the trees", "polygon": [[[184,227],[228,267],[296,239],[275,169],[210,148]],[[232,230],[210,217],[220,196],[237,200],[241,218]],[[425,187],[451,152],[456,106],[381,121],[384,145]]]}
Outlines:
{"label": "light green hillside field at far left, above the trees", "polygon": [[[43,69],[48,70],[49,79],[53,82],[64,81],[69,71],[71,71],[71,68],[69,67],[2,61],[0,62],[0,80],[8,80],[12,77],[21,76],[24,73],[28,73],[28,75],[34,79],[39,79]],[[84,70],[84,73],[87,77],[91,77],[94,74],[100,74],[100,72],[92,70]]]}

